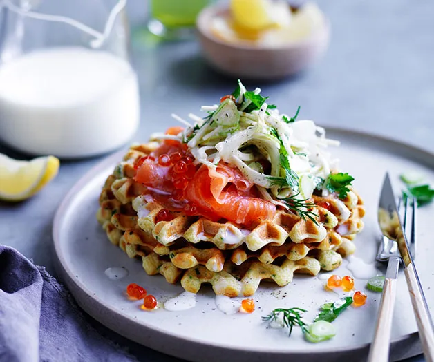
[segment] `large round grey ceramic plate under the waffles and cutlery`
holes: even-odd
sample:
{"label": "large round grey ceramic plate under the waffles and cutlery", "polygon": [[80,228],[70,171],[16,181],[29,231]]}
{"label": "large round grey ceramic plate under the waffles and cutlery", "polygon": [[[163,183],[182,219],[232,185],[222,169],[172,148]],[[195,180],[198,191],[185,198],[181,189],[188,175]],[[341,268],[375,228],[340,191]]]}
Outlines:
{"label": "large round grey ceramic plate under the waffles and cutlery", "polygon": [[[355,187],[366,202],[365,229],[355,240],[355,256],[359,263],[372,268],[375,260],[379,229],[377,200],[385,171],[389,171],[398,191],[402,171],[421,171],[428,181],[434,180],[434,155],[374,135],[328,130],[328,137],[341,140],[341,147],[332,149],[341,159],[341,169],[355,177]],[[162,276],[148,276],[139,260],[129,259],[107,240],[95,220],[98,196],[106,177],[122,158],[122,152],[107,158],[79,180],[59,207],[54,222],[57,268],[79,305],[88,314],[123,336],[155,350],[191,361],[336,361],[366,359],[372,339],[380,294],[366,292],[364,307],[350,307],[336,321],[337,336],[317,344],[305,342],[299,330],[288,338],[287,331],[267,329],[261,316],[276,307],[303,307],[311,321],[318,307],[339,296],[323,289],[320,278],[297,275],[287,287],[261,285],[256,292],[253,314],[226,315],[216,309],[214,293],[204,288],[193,309],[169,312],[158,309],[144,312],[140,302],[129,301],[124,290],[129,283],[143,285],[158,300],[182,292],[180,285],[169,285]],[[433,206],[419,212],[418,257],[416,265],[431,310],[434,307],[434,274],[428,256],[434,254],[430,215]],[[336,273],[352,275],[348,261]],[[129,275],[110,280],[104,271],[109,267],[125,267]],[[357,274],[357,273],[356,273]],[[356,279],[356,289],[364,290],[366,280]],[[408,298],[405,278],[399,275],[397,303],[393,320],[392,358],[403,359],[421,352],[417,327]]]}

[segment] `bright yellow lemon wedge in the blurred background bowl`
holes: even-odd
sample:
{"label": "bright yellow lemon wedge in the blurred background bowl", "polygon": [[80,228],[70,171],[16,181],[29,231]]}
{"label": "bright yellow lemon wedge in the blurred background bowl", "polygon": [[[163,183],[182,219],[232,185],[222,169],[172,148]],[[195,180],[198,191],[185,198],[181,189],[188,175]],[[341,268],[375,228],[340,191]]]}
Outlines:
{"label": "bright yellow lemon wedge in the blurred background bowl", "polygon": [[290,7],[286,2],[232,0],[230,8],[236,26],[252,32],[285,26],[291,19]]}

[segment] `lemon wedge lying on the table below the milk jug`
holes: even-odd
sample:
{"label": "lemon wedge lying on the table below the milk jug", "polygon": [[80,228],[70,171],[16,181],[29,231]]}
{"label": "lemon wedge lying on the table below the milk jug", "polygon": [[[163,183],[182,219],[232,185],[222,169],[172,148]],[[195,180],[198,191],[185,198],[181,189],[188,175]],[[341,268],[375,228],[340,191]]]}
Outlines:
{"label": "lemon wedge lying on the table below the milk jug", "polygon": [[0,200],[30,198],[53,180],[57,171],[59,160],[54,156],[20,161],[0,153]]}

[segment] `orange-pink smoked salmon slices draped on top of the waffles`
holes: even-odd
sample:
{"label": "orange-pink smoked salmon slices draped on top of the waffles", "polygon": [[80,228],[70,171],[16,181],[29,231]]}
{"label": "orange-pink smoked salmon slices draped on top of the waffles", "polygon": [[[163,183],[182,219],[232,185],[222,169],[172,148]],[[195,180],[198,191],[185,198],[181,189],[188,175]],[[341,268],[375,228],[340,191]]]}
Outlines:
{"label": "orange-pink smoked salmon slices draped on top of the waffles", "polygon": [[193,161],[179,142],[163,143],[139,160],[134,180],[149,187],[154,200],[167,209],[187,215],[250,225],[276,213],[276,206],[258,198],[254,184],[238,169],[220,162],[209,170]]}

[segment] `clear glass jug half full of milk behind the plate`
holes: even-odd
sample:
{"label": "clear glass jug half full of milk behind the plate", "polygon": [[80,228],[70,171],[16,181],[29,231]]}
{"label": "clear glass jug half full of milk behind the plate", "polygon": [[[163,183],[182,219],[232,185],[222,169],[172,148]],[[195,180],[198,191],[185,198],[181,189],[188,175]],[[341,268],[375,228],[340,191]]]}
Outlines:
{"label": "clear glass jug half full of milk behind the plate", "polygon": [[130,140],[140,118],[126,0],[0,0],[0,142],[79,158]]}

